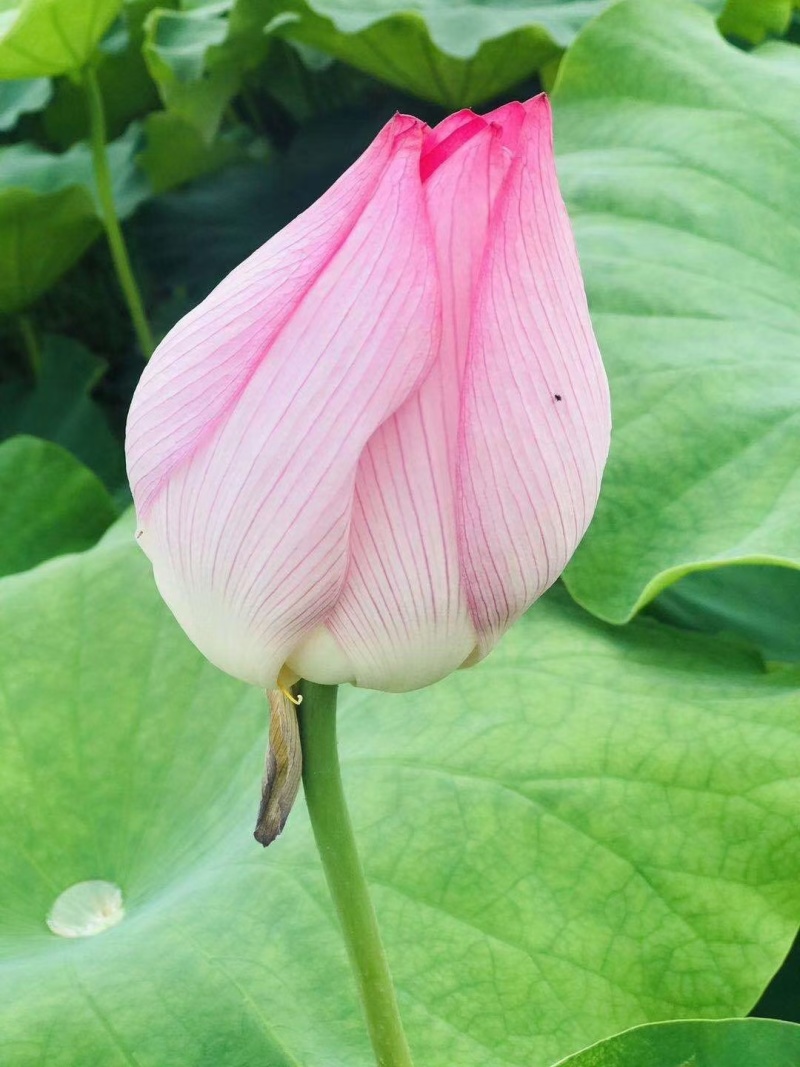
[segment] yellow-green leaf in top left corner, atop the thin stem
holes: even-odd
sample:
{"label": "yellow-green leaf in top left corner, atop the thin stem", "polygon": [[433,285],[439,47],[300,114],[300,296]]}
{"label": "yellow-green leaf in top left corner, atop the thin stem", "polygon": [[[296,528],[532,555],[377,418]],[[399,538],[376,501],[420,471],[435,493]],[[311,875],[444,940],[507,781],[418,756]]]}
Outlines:
{"label": "yellow-green leaf in top left corner, atop the thin stem", "polygon": [[0,0],[0,78],[80,70],[123,0]]}

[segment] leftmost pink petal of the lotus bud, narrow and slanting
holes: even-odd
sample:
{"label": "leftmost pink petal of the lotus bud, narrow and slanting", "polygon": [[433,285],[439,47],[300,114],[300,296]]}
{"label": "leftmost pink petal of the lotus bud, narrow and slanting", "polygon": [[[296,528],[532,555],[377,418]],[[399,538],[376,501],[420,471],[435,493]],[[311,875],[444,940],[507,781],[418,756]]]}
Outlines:
{"label": "leftmost pink petal of the lotus bud, narrow and slanting", "polygon": [[359,218],[396,138],[413,128],[421,124],[397,115],[316,204],[231,271],[159,345],[128,416],[128,475],[140,519],[236,404]]}

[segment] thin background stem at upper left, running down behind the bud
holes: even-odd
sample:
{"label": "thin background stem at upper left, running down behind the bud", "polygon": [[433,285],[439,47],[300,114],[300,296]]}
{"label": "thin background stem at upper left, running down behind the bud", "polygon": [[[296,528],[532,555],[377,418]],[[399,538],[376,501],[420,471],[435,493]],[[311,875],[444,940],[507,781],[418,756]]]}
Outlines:
{"label": "thin background stem at upper left, running down behind the bud", "polygon": [[97,193],[100,197],[102,208],[102,222],[106,227],[106,236],[111,249],[111,258],[114,262],[114,270],[123,290],[125,302],[128,305],[133,329],[137,332],[139,347],[147,359],[153,354],[156,347],[153,343],[153,334],[144,313],[142,294],[139,291],[133,269],[130,265],[128,249],[123,237],[119,219],[114,206],[114,192],[111,182],[111,168],[109,157],[106,152],[106,115],[102,108],[102,95],[97,82],[97,74],[93,66],[87,66],[83,71],[83,85],[86,90],[89,100],[89,116],[92,134],[92,159],[94,162],[95,181],[97,182]]}

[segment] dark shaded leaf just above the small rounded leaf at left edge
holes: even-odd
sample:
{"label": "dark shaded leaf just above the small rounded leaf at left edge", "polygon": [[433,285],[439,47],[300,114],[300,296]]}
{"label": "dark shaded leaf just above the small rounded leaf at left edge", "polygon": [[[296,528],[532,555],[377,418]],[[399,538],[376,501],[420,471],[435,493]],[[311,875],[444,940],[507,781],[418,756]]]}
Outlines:
{"label": "dark shaded leaf just above the small rounded leaf at left edge", "polygon": [[[0,382],[0,440],[45,437],[68,449],[112,490],[125,482],[122,443],[91,392],[106,363],[67,337],[45,336],[35,382]],[[4,498],[3,507],[9,507]]]}

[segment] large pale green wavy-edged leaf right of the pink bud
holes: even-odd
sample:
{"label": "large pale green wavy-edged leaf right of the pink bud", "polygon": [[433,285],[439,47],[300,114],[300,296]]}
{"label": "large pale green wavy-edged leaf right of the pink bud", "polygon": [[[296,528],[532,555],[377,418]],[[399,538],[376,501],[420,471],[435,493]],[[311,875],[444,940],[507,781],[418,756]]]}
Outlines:
{"label": "large pale green wavy-edged leaf right of the pink bud", "polygon": [[800,50],[623,0],[570,49],[559,173],[614,433],[573,595],[624,621],[684,574],[800,563]]}

